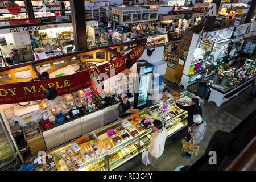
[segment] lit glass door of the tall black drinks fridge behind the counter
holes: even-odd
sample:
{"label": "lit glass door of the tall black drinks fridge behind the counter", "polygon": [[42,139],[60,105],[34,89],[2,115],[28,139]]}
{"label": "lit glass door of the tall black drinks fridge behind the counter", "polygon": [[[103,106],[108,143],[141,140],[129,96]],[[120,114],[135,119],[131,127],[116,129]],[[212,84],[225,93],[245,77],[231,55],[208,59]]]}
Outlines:
{"label": "lit glass door of the tall black drinks fridge behind the counter", "polygon": [[147,103],[148,85],[150,85],[150,75],[144,75],[139,78],[139,96],[137,107]]}

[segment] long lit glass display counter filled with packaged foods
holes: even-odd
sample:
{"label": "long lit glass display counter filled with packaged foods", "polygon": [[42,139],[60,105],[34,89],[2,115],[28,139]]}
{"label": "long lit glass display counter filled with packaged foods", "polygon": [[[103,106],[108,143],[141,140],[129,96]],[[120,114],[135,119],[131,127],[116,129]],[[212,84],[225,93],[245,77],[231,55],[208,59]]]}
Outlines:
{"label": "long lit glass display counter filled with packaged foods", "polygon": [[[195,95],[182,92],[180,104],[188,105],[192,97]],[[199,101],[202,105],[203,100]],[[166,127],[167,139],[187,126],[187,111],[179,109],[171,99],[165,105],[153,105],[138,114],[141,116],[138,123],[127,117],[53,148],[45,156],[35,156],[31,163],[37,171],[114,170],[150,145],[154,134],[150,125],[154,119]]]}

